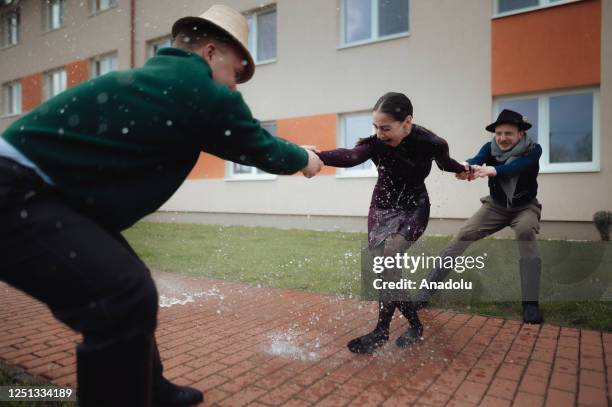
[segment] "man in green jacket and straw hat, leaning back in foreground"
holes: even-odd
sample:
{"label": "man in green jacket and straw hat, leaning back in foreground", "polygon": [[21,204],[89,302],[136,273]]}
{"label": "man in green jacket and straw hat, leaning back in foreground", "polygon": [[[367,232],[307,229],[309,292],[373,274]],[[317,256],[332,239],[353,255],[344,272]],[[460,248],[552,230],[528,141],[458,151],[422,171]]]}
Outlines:
{"label": "man in green jacket and straw hat, leaning back in foreground", "polygon": [[274,174],[322,165],[266,132],[235,91],[254,72],[241,14],[213,6],[172,34],[143,67],[74,86],[0,138],[0,279],[83,334],[81,406],[203,398],[162,376],[157,291],[120,232],[172,196],[202,151]]}

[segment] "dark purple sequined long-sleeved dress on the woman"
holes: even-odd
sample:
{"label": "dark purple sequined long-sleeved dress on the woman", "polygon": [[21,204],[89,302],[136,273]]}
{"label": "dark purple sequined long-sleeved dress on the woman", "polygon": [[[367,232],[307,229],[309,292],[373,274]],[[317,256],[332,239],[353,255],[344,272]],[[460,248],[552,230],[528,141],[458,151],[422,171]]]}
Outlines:
{"label": "dark purple sequined long-sleeved dress on the woman", "polygon": [[393,234],[414,242],[429,221],[429,195],[425,178],[436,161],[443,171],[462,172],[463,165],[449,156],[448,144],[424,127],[413,125],[397,147],[376,136],[362,139],[351,149],[323,151],[319,157],[332,167],[353,167],[371,159],[378,180],[368,213],[368,245],[374,249]]}

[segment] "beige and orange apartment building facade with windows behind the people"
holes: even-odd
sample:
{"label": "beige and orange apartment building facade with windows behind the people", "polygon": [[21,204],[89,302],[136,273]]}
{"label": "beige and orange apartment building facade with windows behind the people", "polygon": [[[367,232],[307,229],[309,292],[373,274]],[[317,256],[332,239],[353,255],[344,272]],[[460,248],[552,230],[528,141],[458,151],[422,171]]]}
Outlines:
{"label": "beige and orange apartment building facade with windows behind the people", "polygon": [[[143,65],[172,23],[217,1],[3,0],[0,130],[66,87]],[[320,149],[372,133],[387,91],[462,161],[503,108],[534,124],[543,148],[542,236],[596,239],[612,209],[612,0],[223,1],[248,17],[254,78],[239,90],[273,134]],[[203,133],[206,129],[202,129]],[[365,231],[376,170],[273,176],[202,153],[158,219]],[[452,234],[484,180],[427,179],[428,233]]]}

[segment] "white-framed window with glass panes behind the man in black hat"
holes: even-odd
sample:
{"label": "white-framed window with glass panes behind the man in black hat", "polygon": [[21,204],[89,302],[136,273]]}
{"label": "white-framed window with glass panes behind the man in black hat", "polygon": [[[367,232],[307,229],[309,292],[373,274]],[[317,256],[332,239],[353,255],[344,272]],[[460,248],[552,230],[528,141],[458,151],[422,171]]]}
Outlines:
{"label": "white-framed window with glass panes behind the man in black hat", "polygon": [[515,110],[533,125],[527,131],[542,146],[543,172],[599,171],[597,90],[500,99],[497,112]]}

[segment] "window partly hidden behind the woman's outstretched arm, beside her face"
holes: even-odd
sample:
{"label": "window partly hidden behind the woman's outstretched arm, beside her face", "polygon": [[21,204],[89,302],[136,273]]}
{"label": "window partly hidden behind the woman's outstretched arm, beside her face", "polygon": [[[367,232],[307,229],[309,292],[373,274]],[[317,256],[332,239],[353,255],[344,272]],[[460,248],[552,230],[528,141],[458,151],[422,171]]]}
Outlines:
{"label": "window partly hidden behind the woman's outstretched arm, beside her face", "polygon": [[[372,113],[350,113],[340,116],[339,147],[353,148],[360,138],[370,137],[372,134],[374,134]],[[338,168],[338,175],[351,177],[375,176],[376,166],[372,160],[368,160],[351,168]]]}

